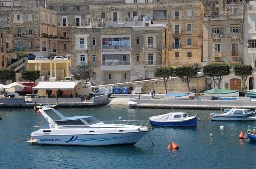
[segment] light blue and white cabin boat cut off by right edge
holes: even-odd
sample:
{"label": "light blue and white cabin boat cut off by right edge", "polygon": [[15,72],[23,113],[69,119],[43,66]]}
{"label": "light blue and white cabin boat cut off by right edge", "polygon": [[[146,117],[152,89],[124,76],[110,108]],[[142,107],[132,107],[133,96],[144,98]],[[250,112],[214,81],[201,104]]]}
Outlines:
{"label": "light blue and white cabin boat cut off by right edge", "polygon": [[210,113],[210,117],[212,121],[250,121],[251,117],[256,117],[256,112],[235,107],[223,114]]}

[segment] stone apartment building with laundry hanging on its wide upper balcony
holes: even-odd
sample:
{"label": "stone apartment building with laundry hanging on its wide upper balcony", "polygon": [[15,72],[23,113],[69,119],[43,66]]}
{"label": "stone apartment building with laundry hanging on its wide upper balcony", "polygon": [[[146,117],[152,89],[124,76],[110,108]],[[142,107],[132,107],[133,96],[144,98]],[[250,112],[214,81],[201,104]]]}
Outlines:
{"label": "stone apartment building with laundry hanging on its wide upper balcony", "polygon": [[[143,22],[143,21],[142,21]],[[154,78],[165,56],[166,28],[162,25],[123,28],[73,28],[73,65],[94,65],[93,81],[127,82],[140,76]]]}

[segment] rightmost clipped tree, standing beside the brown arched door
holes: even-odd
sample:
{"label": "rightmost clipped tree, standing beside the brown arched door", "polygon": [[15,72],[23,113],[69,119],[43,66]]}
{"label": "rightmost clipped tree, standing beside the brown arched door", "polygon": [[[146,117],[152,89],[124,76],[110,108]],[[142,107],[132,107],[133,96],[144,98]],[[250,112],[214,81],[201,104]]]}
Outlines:
{"label": "rightmost clipped tree, standing beside the brown arched door", "polygon": [[246,96],[245,82],[247,80],[247,77],[252,74],[253,67],[251,65],[235,65],[234,72],[236,76],[241,76],[244,83],[244,96]]}

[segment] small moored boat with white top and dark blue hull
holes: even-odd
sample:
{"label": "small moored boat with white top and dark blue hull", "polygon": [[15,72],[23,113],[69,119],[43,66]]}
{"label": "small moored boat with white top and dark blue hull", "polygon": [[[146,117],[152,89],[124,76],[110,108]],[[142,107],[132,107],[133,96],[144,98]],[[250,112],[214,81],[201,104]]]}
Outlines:
{"label": "small moored boat with white top and dark blue hull", "polygon": [[149,118],[154,126],[196,126],[197,116],[189,117],[187,113],[167,113]]}

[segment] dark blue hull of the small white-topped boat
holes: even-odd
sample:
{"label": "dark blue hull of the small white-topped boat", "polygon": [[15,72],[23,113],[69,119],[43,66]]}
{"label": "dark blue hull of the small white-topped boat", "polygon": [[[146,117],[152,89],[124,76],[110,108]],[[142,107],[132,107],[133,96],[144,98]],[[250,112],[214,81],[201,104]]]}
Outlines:
{"label": "dark blue hull of the small white-topped boat", "polygon": [[192,118],[184,121],[157,121],[157,120],[149,120],[149,123],[154,126],[196,126],[197,118]]}

